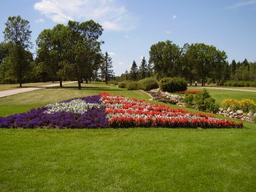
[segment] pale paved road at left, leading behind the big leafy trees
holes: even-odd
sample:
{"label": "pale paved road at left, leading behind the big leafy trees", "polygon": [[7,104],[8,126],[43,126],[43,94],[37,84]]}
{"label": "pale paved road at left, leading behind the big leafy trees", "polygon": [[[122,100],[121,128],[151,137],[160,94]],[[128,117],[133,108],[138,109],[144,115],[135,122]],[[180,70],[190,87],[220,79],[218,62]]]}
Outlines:
{"label": "pale paved road at left, leading behind the big leafy trees", "polygon": [[[66,83],[62,83],[62,84],[70,84],[70,83],[77,83],[77,81],[70,81],[70,82],[66,82]],[[28,88],[19,88],[19,89],[15,89],[15,90],[6,90],[6,91],[0,92],[0,98],[7,97],[10,95],[16,95],[16,94],[24,93],[24,92],[31,92],[31,91],[35,91],[35,90],[51,88],[53,86],[60,86],[60,83],[46,84],[46,85],[42,85],[42,86],[35,86],[35,87],[28,87]]]}

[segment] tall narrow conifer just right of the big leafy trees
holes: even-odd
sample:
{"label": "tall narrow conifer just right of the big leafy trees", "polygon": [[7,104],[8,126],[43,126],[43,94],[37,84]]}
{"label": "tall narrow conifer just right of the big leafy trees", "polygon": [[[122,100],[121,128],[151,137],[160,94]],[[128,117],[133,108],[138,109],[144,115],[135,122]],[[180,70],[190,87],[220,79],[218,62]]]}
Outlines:
{"label": "tall narrow conifer just right of the big leafy trees", "polygon": [[101,75],[102,78],[105,79],[106,84],[108,84],[110,77],[115,77],[115,73],[111,68],[113,68],[112,58],[109,56],[108,52],[106,52],[102,61],[101,68]]}

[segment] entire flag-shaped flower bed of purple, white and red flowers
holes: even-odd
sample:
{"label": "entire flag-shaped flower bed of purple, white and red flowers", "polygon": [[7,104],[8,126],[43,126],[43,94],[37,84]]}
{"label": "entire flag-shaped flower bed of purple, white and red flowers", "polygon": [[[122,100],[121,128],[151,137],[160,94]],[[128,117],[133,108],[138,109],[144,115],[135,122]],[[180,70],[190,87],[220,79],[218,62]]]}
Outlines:
{"label": "entire flag-shaped flower bed of purple, white and red flowers", "polygon": [[89,97],[49,104],[0,117],[0,127],[6,128],[122,128],[122,127],[187,127],[241,128],[229,120],[204,113],[188,113],[183,109],[149,104],[144,100],[100,93]]}

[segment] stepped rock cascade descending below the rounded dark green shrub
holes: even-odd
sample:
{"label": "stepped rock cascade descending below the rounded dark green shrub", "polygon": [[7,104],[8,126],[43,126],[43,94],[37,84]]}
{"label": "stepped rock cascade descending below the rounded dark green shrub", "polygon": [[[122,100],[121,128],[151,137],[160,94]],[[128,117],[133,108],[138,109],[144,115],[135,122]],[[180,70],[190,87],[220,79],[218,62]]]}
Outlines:
{"label": "stepped rock cascade descending below the rounded dark green shrub", "polygon": [[152,100],[157,100],[168,104],[185,106],[185,103],[181,102],[181,99],[184,97],[180,97],[179,95],[174,95],[168,92],[162,92],[159,88],[155,90],[150,90],[147,93],[148,95],[150,95],[150,97],[152,97]]}

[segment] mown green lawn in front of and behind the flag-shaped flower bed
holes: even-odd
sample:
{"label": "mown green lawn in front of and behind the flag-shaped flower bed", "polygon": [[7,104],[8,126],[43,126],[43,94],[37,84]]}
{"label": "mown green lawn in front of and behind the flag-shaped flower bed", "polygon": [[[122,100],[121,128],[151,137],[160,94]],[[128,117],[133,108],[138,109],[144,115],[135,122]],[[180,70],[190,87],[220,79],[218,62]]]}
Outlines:
{"label": "mown green lawn in front of and behind the flag-shaped flower bed", "polygon": [[[99,92],[149,99],[102,83],[83,86],[1,98],[0,115]],[[255,191],[255,138],[248,122],[244,129],[0,129],[0,189]]]}

